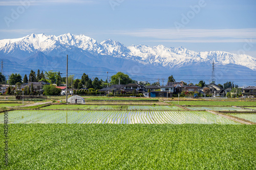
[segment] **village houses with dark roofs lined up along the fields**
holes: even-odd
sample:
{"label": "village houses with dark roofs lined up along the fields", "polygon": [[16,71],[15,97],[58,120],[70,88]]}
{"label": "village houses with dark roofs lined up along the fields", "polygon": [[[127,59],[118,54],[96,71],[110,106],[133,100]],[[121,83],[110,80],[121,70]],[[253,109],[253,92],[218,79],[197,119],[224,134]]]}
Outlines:
{"label": "village houses with dark roofs lined up along the fields", "polygon": [[[44,85],[49,85],[45,81],[39,82],[29,82],[24,83],[19,87],[16,87],[16,90],[30,88],[33,84],[33,90],[36,94],[42,94]],[[5,93],[8,87],[15,88],[15,85],[0,85],[0,93]],[[61,89],[60,95],[66,94],[66,86],[56,86]],[[208,89],[205,90],[205,89]],[[245,97],[254,97],[256,95],[256,86],[248,86],[245,88],[241,88],[241,96]],[[71,89],[67,90],[68,94],[76,94],[76,91],[88,91],[88,88],[83,87],[81,89]],[[130,83],[126,85],[111,85],[110,87],[105,87],[97,90],[95,95],[108,95],[108,96],[121,96],[121,95],[134,95],[140,94],[140,96],[144,96],[146,98],[172,98],[178,96],[189,96],[194,93],[198,93],[201,97],[227,97],[227,94],[230,93],[231,96],[236,94],[236,91],[231,92],[232,88],[223,89],[222,87],[216,85],[215,83],[211,83],[209,85],[205,85],[204,87],[199,87],[194,84],[185,85],[184,82],[167,82],[165,86],[158,85],[148,85],[143,86],[137,83]]]}

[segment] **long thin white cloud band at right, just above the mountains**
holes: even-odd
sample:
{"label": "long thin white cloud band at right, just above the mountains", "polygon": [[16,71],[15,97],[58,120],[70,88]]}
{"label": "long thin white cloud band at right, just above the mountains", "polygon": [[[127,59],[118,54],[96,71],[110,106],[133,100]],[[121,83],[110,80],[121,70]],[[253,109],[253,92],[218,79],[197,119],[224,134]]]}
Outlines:
{"label": "long thin white cloud band at right, just above the mountains", "polygon": [[256,41],[256,29],[142,29],[111,34],[154,38],[153,42],[244,42],[246,39]]}

